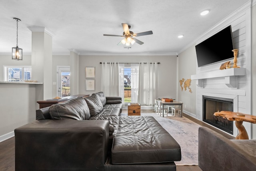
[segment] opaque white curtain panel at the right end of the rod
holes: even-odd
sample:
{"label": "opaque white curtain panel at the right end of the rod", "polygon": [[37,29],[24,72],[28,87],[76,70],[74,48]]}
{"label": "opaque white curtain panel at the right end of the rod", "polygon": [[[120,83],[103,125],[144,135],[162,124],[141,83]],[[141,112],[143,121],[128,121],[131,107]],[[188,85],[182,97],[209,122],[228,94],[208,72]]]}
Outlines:
{"label": "opaque white curtain panel at the right end of the rod", "polygon": [[138,103],[140,105],[154,106],[154,100],[158,97],[158,64],[140,65]]}

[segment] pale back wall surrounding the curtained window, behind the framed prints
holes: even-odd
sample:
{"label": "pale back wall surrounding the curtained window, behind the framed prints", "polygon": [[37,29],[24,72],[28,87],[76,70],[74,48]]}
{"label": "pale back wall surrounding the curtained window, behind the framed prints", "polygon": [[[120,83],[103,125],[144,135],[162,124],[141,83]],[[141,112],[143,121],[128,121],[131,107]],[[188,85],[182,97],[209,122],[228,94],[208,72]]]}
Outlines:
{"label": "pale back wall surrounding the curtained window, behind the framed prints", "polygon": [[[160,62],[158,66],[159,97],[176,99],[176,56],[80,56],[79,59],[79,93],[92,94],[100,91],[101,64],[100,62]],[[95,67],[96,90],[85,90],[85,67]]]}

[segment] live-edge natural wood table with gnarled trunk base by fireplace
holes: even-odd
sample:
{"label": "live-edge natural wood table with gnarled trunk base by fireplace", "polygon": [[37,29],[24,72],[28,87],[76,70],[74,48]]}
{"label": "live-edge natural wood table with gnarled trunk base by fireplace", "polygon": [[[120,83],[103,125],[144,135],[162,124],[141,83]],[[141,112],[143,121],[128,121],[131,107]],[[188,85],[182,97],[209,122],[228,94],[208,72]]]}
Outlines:
{"label": "live-edge natural wood table with gnarled trunk base by fireplace", "polygon": [[238,135],[236,136],[236,139],[249,139],[248,133],[243,125],[243,121],[256,123],[256,116],[240,112],[220,111],[215,112],[214,116],[223,117],[224,119],[227,119],[229,121],[236,121],[235,124],[239,131]]}

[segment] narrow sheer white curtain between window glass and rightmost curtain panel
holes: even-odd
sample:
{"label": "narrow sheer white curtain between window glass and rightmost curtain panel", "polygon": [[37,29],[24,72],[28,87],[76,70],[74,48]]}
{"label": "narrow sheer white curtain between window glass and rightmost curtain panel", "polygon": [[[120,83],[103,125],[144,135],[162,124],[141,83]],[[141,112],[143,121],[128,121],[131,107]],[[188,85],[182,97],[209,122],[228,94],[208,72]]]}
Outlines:
{"label": "narrow sheer white curtain between window glass and rightmost curtain panel", "polygon": [[140,64],[131,64],[131,102],[138,103]]}

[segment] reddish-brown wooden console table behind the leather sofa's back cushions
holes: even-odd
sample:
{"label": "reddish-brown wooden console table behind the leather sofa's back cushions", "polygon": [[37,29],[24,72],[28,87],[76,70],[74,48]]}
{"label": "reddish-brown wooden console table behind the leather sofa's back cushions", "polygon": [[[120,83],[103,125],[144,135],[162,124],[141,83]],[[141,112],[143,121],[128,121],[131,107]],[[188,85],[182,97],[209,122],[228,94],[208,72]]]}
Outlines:
{"label": "reddish-brown wooden console table behind the leather sofa's back cushions", "polygon": [[62,97],[60,99],[47,99],[47,100],[42,100],[42,101],[36,101],[39,104],[39,108],[42,109],[44,107],[49,107],[53,104],[56,103],[62,103],[64,101],[68,101],[70,99],[74,99],[75,97],[89,97],[90,95],[83,95],[83,94],[78,94],[78,95],[70,95],[66,97]]}

